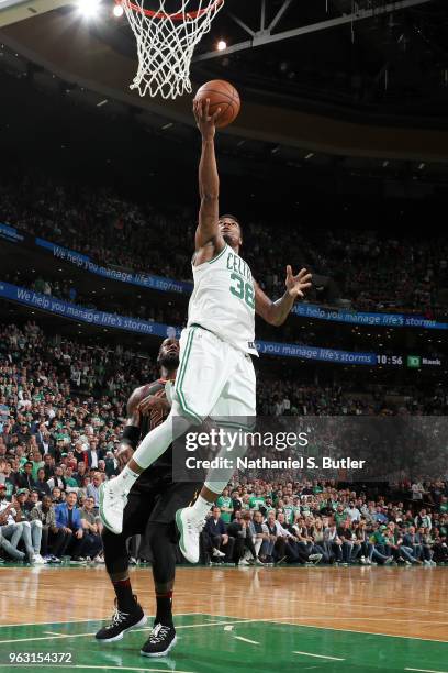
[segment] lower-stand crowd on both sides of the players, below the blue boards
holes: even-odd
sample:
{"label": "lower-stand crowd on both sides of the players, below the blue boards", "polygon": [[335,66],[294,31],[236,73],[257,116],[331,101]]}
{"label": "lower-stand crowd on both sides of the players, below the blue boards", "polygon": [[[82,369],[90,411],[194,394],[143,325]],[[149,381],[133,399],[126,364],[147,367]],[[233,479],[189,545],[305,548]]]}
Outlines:
{"label": "lower-stand crowd on both sides of the players, below the blue boards", "polygon": [[[35,322],[0,327],[0,553],[5,559],[102,562],[98,488],[117,473],[130,393],[157,377],[154,360],[121,346],[48,338]],[[261,411],[278,416],[384,411],[380,398],[368,405],[336,387],[266,379],[260,388]],[[376,493],[288,478],[240,481],[216,505],[202,536],[203,558],[213,562],[447,561],[444,479]]]}

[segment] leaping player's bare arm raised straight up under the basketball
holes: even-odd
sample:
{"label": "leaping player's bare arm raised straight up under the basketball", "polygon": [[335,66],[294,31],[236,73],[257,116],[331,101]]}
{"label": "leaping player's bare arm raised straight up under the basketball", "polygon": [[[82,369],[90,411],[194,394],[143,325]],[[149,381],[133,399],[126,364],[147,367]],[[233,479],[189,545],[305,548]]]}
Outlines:
{"label": "leaping player's bare arm raised straight up under the basketball", "polygon": [[214,114],[209,113],[209,99],[193,101],[193,112],[198,129],[202,136],[201,162],[199,164],[199,196],[201,208],[199,211],[199,224],[195,232],[195,250],[199,251],[211,243],[214,247],[212,255],[221,252],[224,247],[224,239],[220,233],[219,197],[220,177],[217,175],[216,156],[214,148],[215,122],[221,113],[219,108]]}

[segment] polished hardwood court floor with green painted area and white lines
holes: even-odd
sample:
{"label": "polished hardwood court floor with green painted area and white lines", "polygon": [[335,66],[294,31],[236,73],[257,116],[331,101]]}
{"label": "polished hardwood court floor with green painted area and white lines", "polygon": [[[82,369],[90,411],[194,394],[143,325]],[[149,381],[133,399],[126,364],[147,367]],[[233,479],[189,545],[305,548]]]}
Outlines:
{"label": "polished hardwood court floor with green painted area and white lines", "polygon": [[[150,569],[132,571],[154,615]],[[448,673],[448,569],[178,569],[178,644],[146,659],[145,628],[99,644],[112,614],[103,567],[1,567],[0,670],[177,673]],[[12,664],[67,652],[71,663]]]}

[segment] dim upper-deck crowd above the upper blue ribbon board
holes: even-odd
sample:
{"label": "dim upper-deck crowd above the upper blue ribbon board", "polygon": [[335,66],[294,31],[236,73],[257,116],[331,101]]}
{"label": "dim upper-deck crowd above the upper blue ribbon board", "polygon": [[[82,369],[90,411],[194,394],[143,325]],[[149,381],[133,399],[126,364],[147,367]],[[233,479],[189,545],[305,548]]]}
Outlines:
{"label": "dim upper-deck crowd above the upper blue ribbon board", "polygon": [[[160,213],[107,191],[27,178],[0,186],[0,221],[98,263],[191,280],[197,214],[186,209]],[[440,289],[448,287],[448,255],[443,240],[323,232],[302,221],[243,224],[244,256],[273,296],[283,293],[284,265],[292,263],[332,278],[334,298],[350,300],[359,310],[445,312]]]}

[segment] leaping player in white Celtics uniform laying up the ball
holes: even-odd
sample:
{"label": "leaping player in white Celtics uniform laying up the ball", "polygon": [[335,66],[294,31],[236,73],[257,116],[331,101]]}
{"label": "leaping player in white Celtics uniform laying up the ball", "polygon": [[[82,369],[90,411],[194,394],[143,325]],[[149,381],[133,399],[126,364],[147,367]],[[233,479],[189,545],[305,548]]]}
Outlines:
{"label": "leaping player in white Celtics uniform laying up the ball", "polygon": [[[139,474],[156,461],[192,423],[208,417],[250,419],[256,415],[256,380],[251,355],[255,346],[255,312],[268,323],[281,326],[295,299],[311,286],[311,275],[296,276],[287,266],[285,293],[271,301],[254,280],[239,256],[242,228],[233,216],[219,216],[220,180],[214,151],[215,122],[220,110],[209,114],[209,101],[193,103],[202,136],[199,166],[201,207],[192,260],[194,289],[189,304],[188,327],[180,339],[180,364],[167,420],[141,442],[130,463],[100,489],[100,516],[112,532],[122,531],[127,494]],[[176,419],[176,422],[175,422]],[[199,560],[199,533],[233,470],[220,479],[205,482],[192,507],[177,512],[180,549],[192,563]]]}

